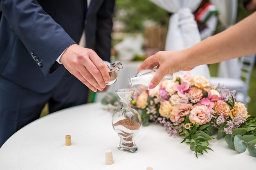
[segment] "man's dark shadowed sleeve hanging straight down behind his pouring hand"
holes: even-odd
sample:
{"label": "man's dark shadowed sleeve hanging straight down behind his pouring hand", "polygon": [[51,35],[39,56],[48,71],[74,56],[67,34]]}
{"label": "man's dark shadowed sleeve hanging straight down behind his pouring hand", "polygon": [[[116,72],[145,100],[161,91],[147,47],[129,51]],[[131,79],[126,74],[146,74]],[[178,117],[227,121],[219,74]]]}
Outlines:
{"label": "man's dark shadowed sleeve hanging straight down behind his pouring hand", "polygon": [[106,61],[110,60],[114,6],[115,0],[104,0],[97,14],[96,53]]}

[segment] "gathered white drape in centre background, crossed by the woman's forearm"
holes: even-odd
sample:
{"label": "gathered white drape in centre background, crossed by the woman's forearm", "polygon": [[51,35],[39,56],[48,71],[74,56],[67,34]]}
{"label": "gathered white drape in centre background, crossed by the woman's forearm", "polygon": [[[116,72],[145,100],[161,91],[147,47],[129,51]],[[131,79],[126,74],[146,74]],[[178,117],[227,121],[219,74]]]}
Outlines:
{"label": "gathered white drape in centre background, crossed by the woman's forearm", "polygon": [[[189,48],[201,41],[198,26],[195,22],[193,11],[195,11],[201,0],[150,0],[166,11],[173,13],[170,18],[168,33],[166,37],[166,51],[178,51]],[[192,74],[200,74],[209,78],[207,65],[198,66]],[[179,72],[183,73],[183,72]]]}

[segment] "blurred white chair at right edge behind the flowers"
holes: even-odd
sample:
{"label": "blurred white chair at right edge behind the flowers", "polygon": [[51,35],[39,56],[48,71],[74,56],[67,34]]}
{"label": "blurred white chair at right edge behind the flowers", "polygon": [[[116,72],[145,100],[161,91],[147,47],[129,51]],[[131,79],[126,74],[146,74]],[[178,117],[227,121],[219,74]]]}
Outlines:
{"label": "blurred white chair at right edge behind the flowers", "polygon": [[225,85],[230,91],[236,90],[236,101],[243,102],[246,106],[250,102],[250,97],[247,96],[249,89],[249,82],[252,69],[255,64],[255,54],[240,57],[240,79],[224,78],[224,77],[211,77],[210,83],[213,86]]}

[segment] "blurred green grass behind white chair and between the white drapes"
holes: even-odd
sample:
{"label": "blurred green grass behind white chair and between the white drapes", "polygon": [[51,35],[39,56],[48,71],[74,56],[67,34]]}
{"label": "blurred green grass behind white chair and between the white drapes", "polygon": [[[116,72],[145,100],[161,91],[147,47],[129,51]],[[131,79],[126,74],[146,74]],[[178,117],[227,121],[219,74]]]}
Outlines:
{"label": "blurred green grass behind white chair and between the white drapes", "polygon": [[[218,72],[218,64],[209,65],[209,69],[211,76],[216,77]],[[251,97],[251,102],[249,102],[247,110],[250,115],[256,116],[256,67],[254,67],[252,71],[248,95]]]}

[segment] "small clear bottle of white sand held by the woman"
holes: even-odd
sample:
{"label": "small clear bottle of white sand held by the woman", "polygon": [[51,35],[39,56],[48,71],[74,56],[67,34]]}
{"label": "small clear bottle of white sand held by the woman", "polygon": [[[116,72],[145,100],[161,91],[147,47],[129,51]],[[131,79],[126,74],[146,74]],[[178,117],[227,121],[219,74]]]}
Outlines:
{"label": "small clear bottle of white sand held by the woman", "polygon": [[[157,73],[158,69],[153,68],[153,69],[144,69],[141,70],[137,73],[136,76],[134,77],[129,77],[129,84],[130,86],[135,86],[135,85],[143,85],[148,87],[149,83],[151,82],[151,79],[155,76],[155,73]],[[173,74],[168,74],[164,76],[164,78],[161,81],[164,80],[172,80],[173,79]]]}

